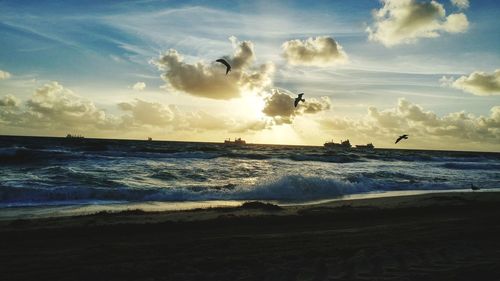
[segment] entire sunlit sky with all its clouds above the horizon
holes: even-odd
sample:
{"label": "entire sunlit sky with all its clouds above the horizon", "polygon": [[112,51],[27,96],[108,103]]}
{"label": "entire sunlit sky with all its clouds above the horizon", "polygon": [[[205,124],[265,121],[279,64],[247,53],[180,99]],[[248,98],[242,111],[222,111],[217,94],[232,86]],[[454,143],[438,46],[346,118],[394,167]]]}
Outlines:
{"label": "entire sunlit sky with all its clouds above the horizon", "polygon": [[495,0],[0,1],[0,135],[500,151],[498,14]]}

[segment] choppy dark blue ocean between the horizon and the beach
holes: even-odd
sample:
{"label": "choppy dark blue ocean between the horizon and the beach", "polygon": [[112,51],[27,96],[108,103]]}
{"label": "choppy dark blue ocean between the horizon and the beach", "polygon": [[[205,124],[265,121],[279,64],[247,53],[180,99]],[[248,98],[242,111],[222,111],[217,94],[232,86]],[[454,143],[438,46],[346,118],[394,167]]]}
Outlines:
{"label": "choppy dark blue ocean between the horizon and the beach", "polygon": [[2,136],[0,179],[0,212],[245,200],[296,204],[469,191],[471,184],[496,189],[500,153]]}

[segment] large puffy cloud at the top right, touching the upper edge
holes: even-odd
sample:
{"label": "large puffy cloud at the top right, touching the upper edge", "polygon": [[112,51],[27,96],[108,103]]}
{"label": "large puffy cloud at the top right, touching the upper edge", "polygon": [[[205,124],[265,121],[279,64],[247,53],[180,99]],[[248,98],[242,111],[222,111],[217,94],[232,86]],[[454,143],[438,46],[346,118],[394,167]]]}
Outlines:
{"label": "large puffy cloud at the top right, touching the upper edge", "polygon": [[418,38],[439,37],[444,32],[465,32],[469,26],[465,14],[446,16],[443,5],[434,0],[382,0],[382,3],[383,7],[373,12],[373,26],[366,31],[370,40],[387,47],[414,43]]}

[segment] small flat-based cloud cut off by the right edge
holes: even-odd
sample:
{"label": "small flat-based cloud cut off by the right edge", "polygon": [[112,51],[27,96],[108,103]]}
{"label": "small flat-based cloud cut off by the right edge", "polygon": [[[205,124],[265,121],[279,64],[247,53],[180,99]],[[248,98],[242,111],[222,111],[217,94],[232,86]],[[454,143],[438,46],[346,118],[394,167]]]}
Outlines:
{"label": "small flat-based cloud cut off by the right edge", "polygon": [[[448,79],[447,86],[476,96],[500,95],[500,69],[495,70],[493,74],[474,71],[469,76],[461,76],[455,81],[453,81],[453,78],[446,79]],[[442,80],[443,78],[440,81]]]}

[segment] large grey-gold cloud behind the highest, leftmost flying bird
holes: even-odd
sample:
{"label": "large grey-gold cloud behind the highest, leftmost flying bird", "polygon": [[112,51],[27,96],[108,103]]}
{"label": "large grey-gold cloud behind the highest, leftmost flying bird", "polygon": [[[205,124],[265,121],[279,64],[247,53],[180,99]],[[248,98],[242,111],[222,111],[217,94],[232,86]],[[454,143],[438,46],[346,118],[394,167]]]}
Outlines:
{"label": "large grey-gold cloud behind the highest, leftmost flying bird", "polygon": [[244,90],[260,91],[272,84],[272,63],[251,68],[255,60],[253,43],[239,42],[230,38],[234,47],[233,57],[225,57],[232,70],[225,75],[225,66],[220,63],[185,63],[174,49],[168,50],[153,63],[162,71],[162,79],[171,88],[187,94],[219,100],[237,98]]}

